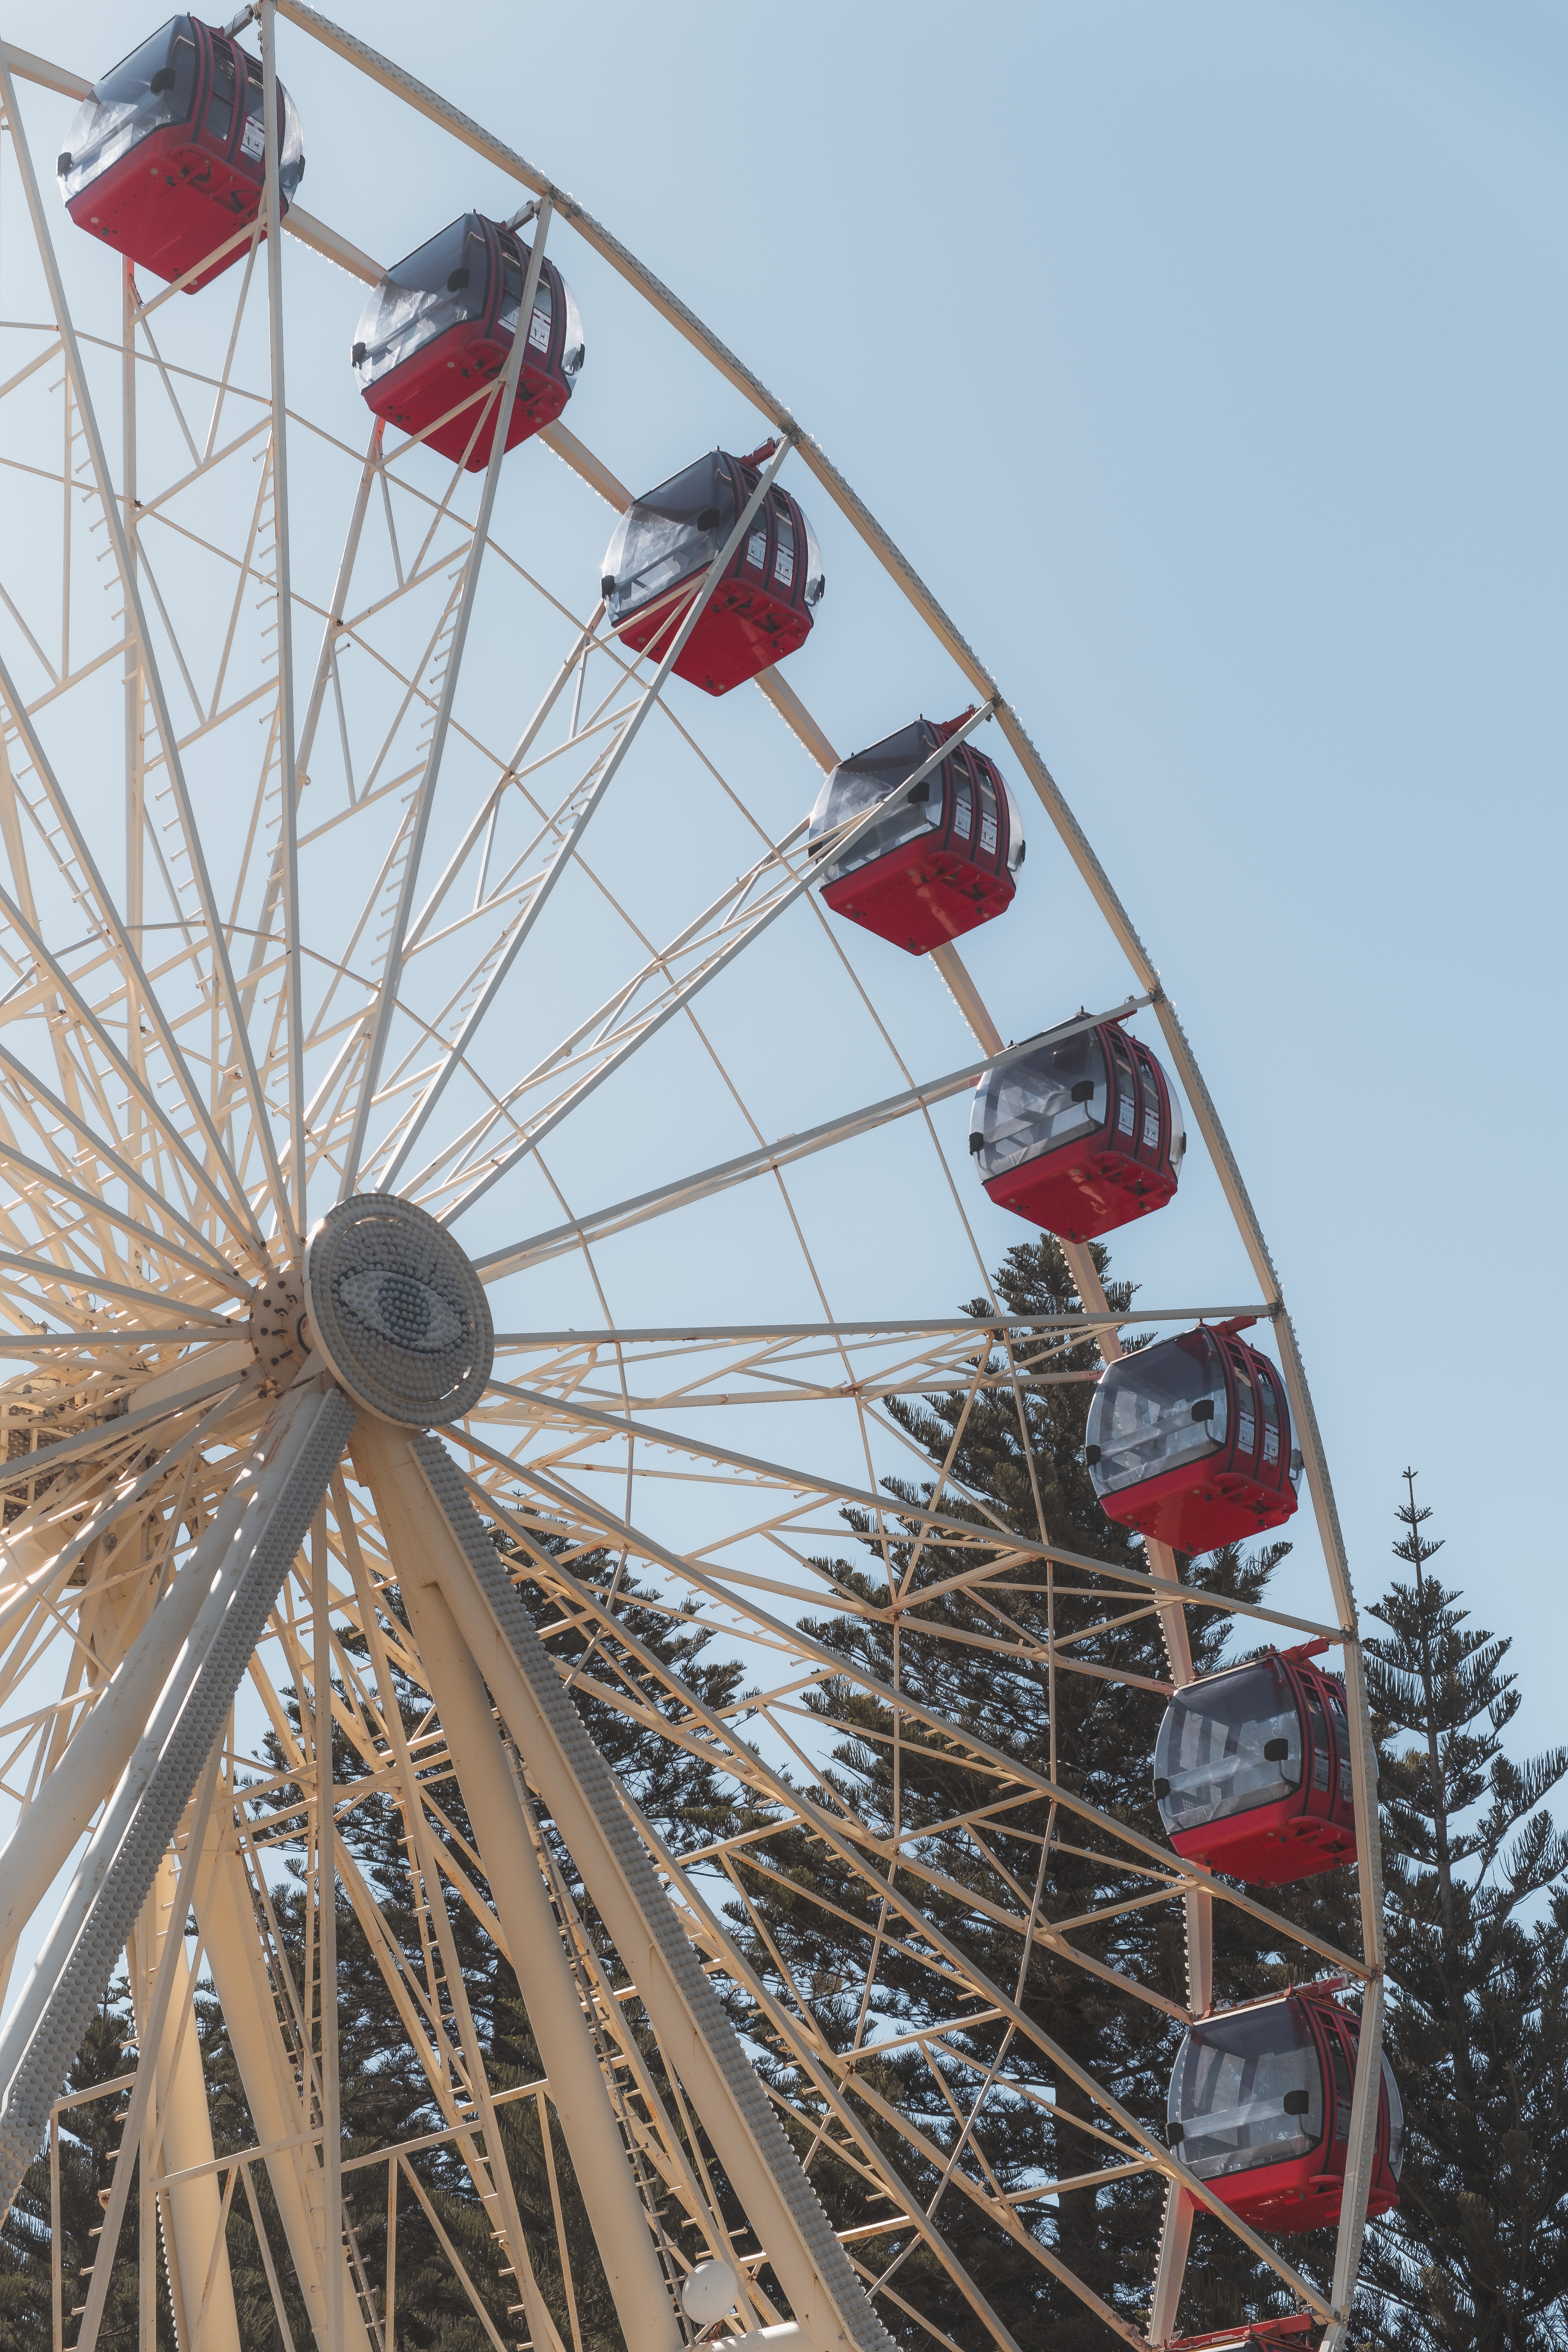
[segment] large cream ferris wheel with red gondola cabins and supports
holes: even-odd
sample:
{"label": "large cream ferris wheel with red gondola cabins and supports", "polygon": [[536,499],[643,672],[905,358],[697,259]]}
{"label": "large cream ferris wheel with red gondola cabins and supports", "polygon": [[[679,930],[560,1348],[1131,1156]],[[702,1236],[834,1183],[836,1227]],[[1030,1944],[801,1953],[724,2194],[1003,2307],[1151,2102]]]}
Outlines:
{"label": "large cream ferris wheel with red gondola cabins and supports", "polygon": [[[879,2352],[952,2343],[945,2312],[1013,2345],[985,2246],[1168,2345],[1194,2216],[1342,2345],[1399,2171],[1345,1545],[1218,1112],[1023,720],[795,416],[393,61],[263,0],[82,64],[0,66],[7,2206],[120,1964],[139,2051],[106,2251],[63,2281],[56,2241],[56,2347],[94,2352],[136,2173],[143,2347],[160,2274],[183,2347],[240,2352],[249,2211],[280,2340],[303,2307],[324,2352],[390,2352],[418,2211],[498,2352],[496,2307],[581,2352],[569,2199],[552,2169],[541,2246],[505,2164],[520,2098],[628,2352]],[[421,186],[515,205],[362,252],[296,191],[313,122],[371,118],[388,165],[440,151]],[[691,435],[639,489],[614,470],[639,435],[583,395],[661,367]],[[954,717],[867,699],[865,666],[813,715],[858,614]],[[1030,941],[1039,974],[1046,887],[1086,896],[1119,981],[1086,1011],[1063,971],[1004,1042],[971,964]],[[1128,1228],[1135,1258],[1199,1178],[1255,1296],[1133,1317],[1091,1242]],[[992,1209],[1060,1240],[1077,1305],[997,1296]],[[1063,1548],[1039,1489],[1020,1529],[896,1409],[1011,1399],[1027,1458],[1053,1383],[1133,1552]],[[1178,1552],[1298,1503],[1316,1613],[1182,1583]],[[1248,1663],[1194,1670],[1204,1609]],[[1138,1618],[1164,1837],[945,1703],[983,1656],[1051,1724],[1070,1677],[1117,1708],[1095,1644]],[[693,1628],[733,1703],[682,1672]],[[682,1844],[595,1722],[705,1766],[717,1835]],[[882,1811],[832,1769],[846,1722]],[[369,1788],[402,1818],[395,1912],[346,1835]],[[1070,1853],[1121,1875],[1091,1917]],[[1356,1950],[1269,1910],[1352,1865]],[[1215,2009],[1215,1905],[1293,1990]],[[418,2140],[346,2152],[341,1907],[425,2070]],[[1098,1957],[1150,1907],[1185,1926],[1180,1997]],[[538,2082],[491,2079],[458,1915],[517,1976]],[[1180,2030],[1164,2122],[1051,2032],[1039,1955]],[[835,2223],[830,2166],[867,2220]],[[1140,2314],[1051,2227],[1128,2180],[1164,2187]],[[1331,2277],[1293,2258],[1319,2227]]]}

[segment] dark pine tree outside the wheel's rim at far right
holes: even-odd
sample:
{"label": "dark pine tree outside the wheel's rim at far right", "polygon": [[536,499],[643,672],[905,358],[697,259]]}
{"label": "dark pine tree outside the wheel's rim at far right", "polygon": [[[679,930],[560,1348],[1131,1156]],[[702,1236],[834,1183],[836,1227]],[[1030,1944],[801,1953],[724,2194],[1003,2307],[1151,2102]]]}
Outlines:
{"label": "dark pine tree outside the wheel's rim at far right", "polygon": [[1568,2343],[1568,1844],[1544,1797],[1568,1750],[1512,1762],[1509,1642],[1429,1573],[1406,1470],[1394,1581],[1371,1611],[1387,1872],[1387,2051],[1406,2105],[1399,2211],[1366,2305],[1392,2352]]}

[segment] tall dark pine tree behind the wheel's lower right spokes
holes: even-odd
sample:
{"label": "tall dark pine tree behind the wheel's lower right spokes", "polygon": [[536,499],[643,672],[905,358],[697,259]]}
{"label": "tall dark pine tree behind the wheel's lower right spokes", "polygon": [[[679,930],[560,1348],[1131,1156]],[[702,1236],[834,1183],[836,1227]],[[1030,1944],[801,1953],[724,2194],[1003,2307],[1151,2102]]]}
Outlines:
{"label": "tall dark pine tree behind the wheel's lower right spokes", "polygon": [[[1095,1251],[1095,1261],[1103,1272],[1105,1251]],[[997,1294],[1006,1310],[1018,1317],[1079,1305],[1063,1251],[1048,1235],[1009,1251],[1006,1265],[997,1275]],[[1131,1305],[1126,1287],[1112,1287],[1110,1298],[1124,1310]],[[973,1301],[971,1312],[990,1317],[994,1308],[990,1301]],[[1081,1343],[1065,1357],[1053,1357],[1053,1367],[1079,1374],[1084,1385],[1030,1385],[1023,1392],[1023,1404],[1006,1385],[980,1390],[973,1397],[969,1390],[954,1390],[933,1402],[903,1399],[893,1404],[893,1411],[933,1463],[950,1463],[961,1486],[983,1494],[1018,1534],[1034,1538],[1044,1526],[1048,1538],[1079,1555],[1107,1564],[1143,1566],[1143,1552],[1128,1531],[1114,1526],[1100,1510],[1084,1463],[1086,1383],[1098,1369],[1098,1355],[1088,1343]],[[931,1479],[919,1486],[889,1484],[907,1501],[929,1501],[933,1491]],[[964,1515],[964,1505],[952,1501],[952,1489],[945,1489],[943,1508]],[[851,1526],[858,1526],[863,1536],[860,1559],[820,1562],[820,1566],[846,1590],[886,1606],[889,1564],[882,1543],[870,1541],[865,1519],[853,1522],[851,1517]],[[914,1543],[893,1548],[893,1576],[910,1569],[914,1550]],[[1187,1576],[1208,1592],[1258,1599],[1286,1550],[1288,1545],[1272,1543],[1248,1559],[1222,1550],[1208,1559],[1190,1562]],[[919,1550],[912,1590],[943,1583],[966,1564],[961,1552],[926,1543]],[[1037,1637],[1044,1637],[1051,1609],[1058,1637],[1072,1635],[1079,1625],[1126,1613],[1126,1585],[1100,1583],[1086,1571],[1074,1571],[1070,1583],[1091,1597],[1056,1597],[1051,1602],[1044,1569],[1032,1578],[1032,1590],[1020,1590],[1030,1585],[1030,1571],[1016,1569],[1009,1573],[1009,1609]],[[914,1682],[933,1708],[973,1726],[992,1748],[1016,1755],[1034,1771],[1048,1773],[1053,1762],[1063,1785],[1081,1792],[1112,1818],[1154,1839],[1164,1837],[1152,1795],[1154,1736],[1164,1712],[1159,1691],[1058,1672],[1056,1722],[1051,1722],[1044,1675],[1006,1670],[994,1651],[964,1646],[961,1639],[922,1642],[922,1623],[945,1637],[997,1630],[983,1604],[964,1592],[947,1592],[924,1611],[910,1609],[900,1618],[898,1635],[905,1686]],[[1239,1653],[1227,1646],[1232,1621],[1222,1611],[1190,1609],[1187,1623],[1199,1675],[1234,1663]],[[835,1616],[809,1623],[806,1630],[839,1653],[853,1656],[858,1665],[870,1668],[882,1679],[891,1679],[893,1635],[886,1623]],[[1145,1682],[1161,1682],[1168,1672],[1154,1616],[1143,1616],[1114,1632],[1095,1632],[1074,1646],[1074,1656],[1091,1665],[1110,1665],[1121,1675],[1145,1677]],[[818,1686],[811,1705],[827,1722],[842,1726],[827,1778],[853,1804],[860,1820],[879,1835],[891,1835],[896,1799],[889,1712],[851,1682]],[[905,1835],[912,1823],[952,1820],[969,1806],[985,1804],[992,1795],[992,1783],[980,1785],[978,1778],[971,1783],[940,1743],[924,1740],[907,1722],[900,1726],[898,1820]],[[1013,1816],[1013,1820],[1018,1830],[1032,1830],[1039,1837],[1046,1830],[1046,1816],[1048,1809],[1039,1804],[1034,1813]],[[1039,1863],[1039,1844],[1030,1844],[1023,1835],[1016,1839],[999,1835],[992,1844],[1013,1877],[1030,1884]],[[1124,1856],[1081,1820],[1074,1823],[1070,1844],[1088,1851],[1053,1853],[1041,1903],[1046,1919],[1081,1917],[1135,1891]],[[950,1837],[943,1844],[940,1860],[943,1870],[961,1886],[1006,1900],[1006,1889],[961,1837]],[[745,1867],[769,1889],[769,1924],[778,1933],[785,1964],[797,1980],[811,1983],[818,1994],[813,1999],[818,2027],[837,2049],[851,2046],[858,2002],[849,1994],[835,1997],[835,1985],[858,1987],[860,1983],[877,1926],[877,1896],[839,1870],[820,1844],[797,1832],[780,1832],[776,1839],[752,1844]],[[762,1879],[764,1870],[769,1872],[766,1882]],[[1342,1938],[1349,1929],[1349,1875],[1335,1872],[1307,1889],[1284,1889],[1281,1893],[1300,1898],[1302,1917],[1309,1915],[1324,1933]],[[929,1903],[929,1893],[922,1893],[922,1900]],[[835,1905],[837,1919],[825,1905]],[[856,1919],[858,1929],[851,1929],[844,1915]],[[987,1929],[980,1912],[957,1900],[938,1905],[938,1917],[943,1931],[971,1952],[987,1976],[1004,1978],[1009,1990],[1013,1987],[1016,1938]],[[750,1936],[743,1912],[733,1910],[731,1922],[738,1940],[750,1945],[752,1964],[771,1976],[769,1952]],[[1185,1940],[1175,1905],[1128,1912],[1095,1929],[1077,1929],[1072,1943],[1133,1980],[1185,1999]],[[1300,1952],[1293,1947],[1267,1950],[1251,1922],[1234,1910],[1215,1907],[1218,2002],[1274,1990],[1298,1973],[1309,1976],[1316,1969],[1302,1969]],[[912,2034],[931,2023],[931,1992],[933,1985],[924,1969],[900,1962],[898,1955],[882,1955],[877,2011],[891,2034]],[[1166,2084],[1180,2037],[1180,2025],[1168,2013],[1140,2004],[1112,1983],[1041,1947],[1032,1952],[1018,1999],[1072,2058],[1112,2086],[1126,2107],[1164,2131]],[[997,2032],[990,2027],[969,2037],[969,2056],[980,2067],[997,2056]],[[1034,2056],[1030,2063],[1037,2063]],[[780,2091],[802,2096],[802,2084],[780,2051],[769,2053],[764,2070],[771,2072]],[[889,2105],[917,2114],[938,2145],[947,2143],[952,2126],[940,2086],[933,2084],[914,2049],[860,2060],[856,2079]],[[950,2089],[959,2107],[966,2105],[973,2079],[969,2067],[952,2067]],[[1011,2145],[1001,2145],[997,2152],[994,2143],[987,2143],[987,2150],[997,2154],[1004,2187],[1027,2185],[1030,2178],[1039,2178],[1041,2166],[1056,2176],[1086,2169],[1084,2150],[1088,2143],[1067,2117],[1088,2119],[1091,2105],[1065,2072],[1051,2089],[1056,2112],[1063,2117],[1060,2124],[1041,2119],[1039,2107],[1018,2103],[1004,2126],[1011,2131]],[[863,2103],[860,2112],[896,2171],[907,2180],[910,2197],[926,2204],[938,2187],[940,2166],[914,2161],[907,2140],[891,2129],[872,2100]],[[804,2133],[799,2145],[802,2150],[809,2145]],[[877,2220],[877,2204],[865,2183],[849,2166],[837,2164],[832,2154],[823,2150],[813,2154],[811,2178],[835,2227]],[[1133,2183],[1077,2190],[1058,2197],[1053,2206],[1025,2206],[1023,2211],[1032,2216],[1041,2244],[1060,2253],[1098,2296],[1138,2324],[1152,2284],[1150,2267],[1159,2234],[1161,2194],[1159,2180],[1138,2176]],[[952,2187],[945,2190],[938,2220],[971,2277],[985,2284],[992,2307],[1020,2343],[1048,2340],[1053,2352],[1091,2352],[1091,2347],[1100,2352],[1107,2343],[1105,2326],[1048,2277],[1027,2249],[1004,2237],[973,2201]],[[870,2253],[872,2246],[865,2251]],[[1300,2241],[1295,2241],[1293,2253],[1300,2253]],[[884,2253],[882,2260],[886,2258]],[[1229,2232],[1206,2220],[1199,2223],[1190,2277],[1192,2288],[1182,2305],[1185,2326],[1218,2326],[1234,2317],[1281,2307],[1274,2281],[1258,2274]],[[896,2286],[957,2345],[978,2347],[987,2340],[976,2314],[922,2251],[912,2251],[903,2260]],[[914,2321],[900,2321],[898,2312],[886,2305],[884,2319],[910,2345],[924,2340]]]}

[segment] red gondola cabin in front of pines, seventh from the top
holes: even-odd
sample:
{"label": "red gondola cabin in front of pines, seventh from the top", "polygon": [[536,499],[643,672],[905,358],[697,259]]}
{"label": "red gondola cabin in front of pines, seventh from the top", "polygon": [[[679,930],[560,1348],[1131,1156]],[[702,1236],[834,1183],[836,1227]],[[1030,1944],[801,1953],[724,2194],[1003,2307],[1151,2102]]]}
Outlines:
{"label": "red gondola cabin in front of pines, seventh from the top", "polygon": [[1356,1858],[1345,1684],[1324,1642],[1185,1684],[1159,1726],[1154,1797],[1178,1853],[1251,1886]]}

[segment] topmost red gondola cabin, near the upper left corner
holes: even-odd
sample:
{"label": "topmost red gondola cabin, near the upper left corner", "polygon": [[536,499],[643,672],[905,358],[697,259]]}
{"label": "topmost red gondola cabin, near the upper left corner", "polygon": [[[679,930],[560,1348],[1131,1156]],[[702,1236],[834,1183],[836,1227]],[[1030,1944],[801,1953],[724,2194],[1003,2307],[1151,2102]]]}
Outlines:
{"label": "topmost red gondola cabin, near the upper left corner", "polygon": [[[261,59],[214,24],[169,16],[162,33],[94,82],[54,169],[78,228],[113,245],[136,268],[183,278],[261,212]],[[280,82],[282,212],[303,172],[299,115]],[[244,249],[240,240],[186,294],[212,285]]]}

